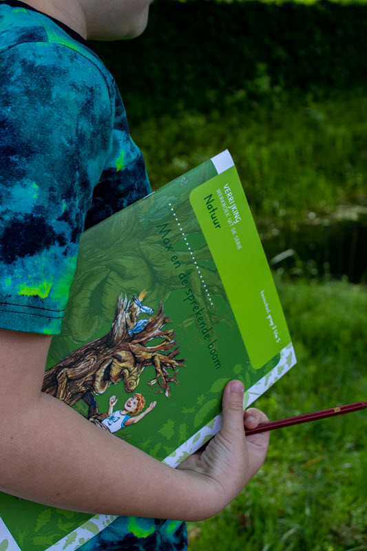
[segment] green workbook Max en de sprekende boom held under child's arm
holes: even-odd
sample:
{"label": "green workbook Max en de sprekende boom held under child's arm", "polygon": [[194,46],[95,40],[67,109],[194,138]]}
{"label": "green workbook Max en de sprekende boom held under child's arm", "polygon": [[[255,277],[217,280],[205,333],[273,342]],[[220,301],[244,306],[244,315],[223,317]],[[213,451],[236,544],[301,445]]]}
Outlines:
{"label": "green workbook Max en de sprekende boom held under child's arm", "polygon": [[[295,364],[228,151],[85,231],[43,391],[176,466]],[[75,550],[116,517],[1,494],[1,551]]]}

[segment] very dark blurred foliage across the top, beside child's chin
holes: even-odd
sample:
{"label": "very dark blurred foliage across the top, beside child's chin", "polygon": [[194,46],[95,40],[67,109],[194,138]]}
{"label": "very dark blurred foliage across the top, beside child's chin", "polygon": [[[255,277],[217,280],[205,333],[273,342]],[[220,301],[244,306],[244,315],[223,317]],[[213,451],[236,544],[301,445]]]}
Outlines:
{"label": "very dark blurred foliage across the top, beside child's chin", "polygon": [[141,37],[93,47],[137,122],[364,89],[366,28],[367,8],[358,4],[158,0]]}

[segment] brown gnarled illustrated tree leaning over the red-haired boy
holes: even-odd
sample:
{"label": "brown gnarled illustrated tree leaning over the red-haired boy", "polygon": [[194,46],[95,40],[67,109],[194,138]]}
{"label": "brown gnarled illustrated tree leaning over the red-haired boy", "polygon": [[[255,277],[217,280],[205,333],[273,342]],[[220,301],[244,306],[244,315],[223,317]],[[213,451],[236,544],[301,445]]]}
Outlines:
{"label": "brown gnarled illustrated tree leaning over the red-haired boy", "polygon": [[[137,302],[141,303],[146,294],[142,291]],[[174,329],[163,329],[171,320],[165,315],[162,302],[158,312],[140,324],[143,329],[134,332],[140,314],[137,302],[127,302],[126,295],[119,295],[109,333],[84,344],[46,371],[42,391],[70,406],[83,399],[89,406],[90,418],[98,413],[94,394],[103,394],[110,384],[119,382],[132,393],[145,367],[152,366],[155,376],[148,383],[150,388],[156,385],[155,394],[169,397],[170,384],[178,384],[178,367],[185,365],[185,360],[176,360],[176,333]],[[160,342],[148,346],[157,337]]]}

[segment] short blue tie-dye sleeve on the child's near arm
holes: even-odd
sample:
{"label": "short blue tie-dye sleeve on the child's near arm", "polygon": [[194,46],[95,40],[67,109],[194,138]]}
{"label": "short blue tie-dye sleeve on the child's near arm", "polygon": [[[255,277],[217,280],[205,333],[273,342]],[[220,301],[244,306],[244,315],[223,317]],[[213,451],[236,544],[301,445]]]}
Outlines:
{"label": "short blue tie-dye sleeve on the child's near arm", "polygon": [[0,327],[56,334],[94,187],[112,150],[114,99],[71,48],[0,54]]}

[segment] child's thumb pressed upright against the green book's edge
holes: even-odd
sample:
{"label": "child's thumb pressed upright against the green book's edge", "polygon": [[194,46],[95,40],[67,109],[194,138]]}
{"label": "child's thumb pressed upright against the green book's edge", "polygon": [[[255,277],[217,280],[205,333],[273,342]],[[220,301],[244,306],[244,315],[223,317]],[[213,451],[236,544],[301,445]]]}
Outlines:
{"label": "child's thumb pressed upright against the green book's edge", "polygon": [[222,398],[222,436],[241,433],[244,437],[243,426],[243,395],[244,386],[241,381],[233,380],[227,383]]}

